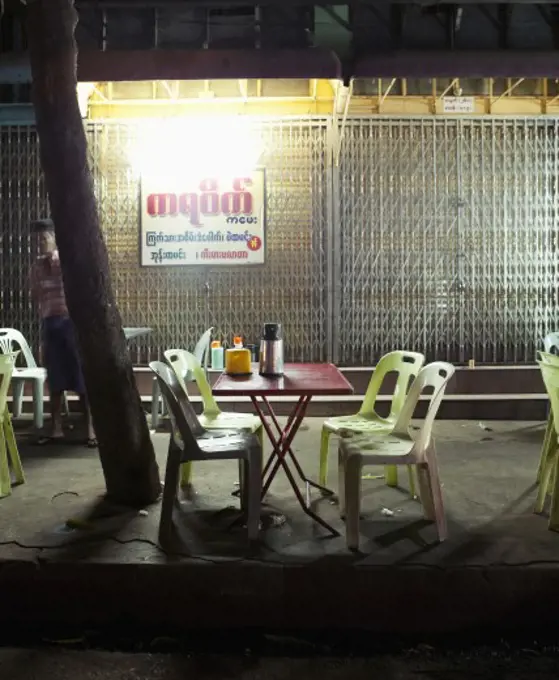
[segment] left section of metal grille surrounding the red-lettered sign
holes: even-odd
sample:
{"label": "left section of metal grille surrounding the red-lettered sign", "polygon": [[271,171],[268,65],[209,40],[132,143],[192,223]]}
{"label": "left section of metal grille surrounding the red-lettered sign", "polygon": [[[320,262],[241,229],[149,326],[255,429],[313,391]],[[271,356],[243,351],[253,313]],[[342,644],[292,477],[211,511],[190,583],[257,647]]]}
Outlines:
{"label": "left section of metal grille surrounding the red-lettered sign", "polygon": [[130,151],[141,124],[89,124],[101,221],[125,325],[151,326],[140,348],[154,358],[171,346],[192,348],[205,328],[231,342],[257,342],[262,323],[285,326],[286,355],[327,355],[327,121],[255,120],[264,149],[267,263],[263,268],[140,268],[139,181]]}

